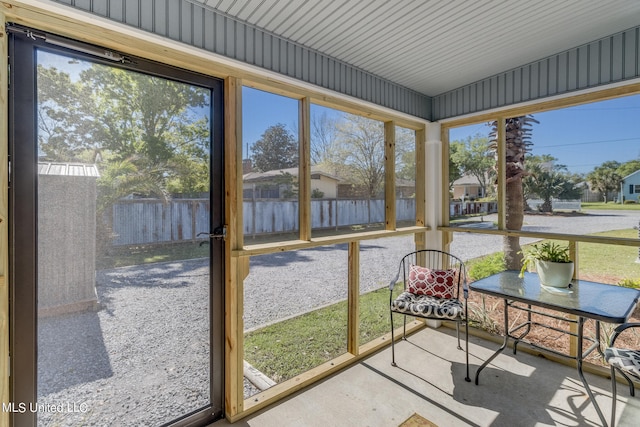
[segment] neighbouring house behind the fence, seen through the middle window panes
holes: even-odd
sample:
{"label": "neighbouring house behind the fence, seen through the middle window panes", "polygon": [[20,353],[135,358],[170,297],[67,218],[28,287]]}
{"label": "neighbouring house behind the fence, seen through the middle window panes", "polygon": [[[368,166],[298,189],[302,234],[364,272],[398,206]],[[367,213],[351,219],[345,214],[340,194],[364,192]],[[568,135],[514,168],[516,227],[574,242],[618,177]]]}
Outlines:
{"label": "neighbouring house behind the fence, seen through the middle window panes", "polygon": [[[242,176],[245,199],[282,199],[297,192],[298,168],[277,169],[266,172],[248,172]],[[324,198],[336,198],[340,178],[311,167],[311,191],[318,190]]]}

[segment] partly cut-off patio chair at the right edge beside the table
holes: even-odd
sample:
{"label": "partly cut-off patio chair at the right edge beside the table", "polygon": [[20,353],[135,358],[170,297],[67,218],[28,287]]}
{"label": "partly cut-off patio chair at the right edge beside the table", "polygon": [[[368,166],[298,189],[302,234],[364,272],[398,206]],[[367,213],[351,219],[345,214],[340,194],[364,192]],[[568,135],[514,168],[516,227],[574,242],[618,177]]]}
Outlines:
{"label": "partly cut-off patio chair at the right edge beside the table", "polygon": [[[611,367],[611,427],[616,421],[616,371],[629,384],[629,394],[635,396],[632,378],[640,381],[640,350],[630,350],[615,347],[615,341],[620,334],[629,328],[638,328],[640,323],[624,323],[613,332],[609,341],[609,348],[604,351],[604,359]],[[632,377],[632,378],[630,378]]]}

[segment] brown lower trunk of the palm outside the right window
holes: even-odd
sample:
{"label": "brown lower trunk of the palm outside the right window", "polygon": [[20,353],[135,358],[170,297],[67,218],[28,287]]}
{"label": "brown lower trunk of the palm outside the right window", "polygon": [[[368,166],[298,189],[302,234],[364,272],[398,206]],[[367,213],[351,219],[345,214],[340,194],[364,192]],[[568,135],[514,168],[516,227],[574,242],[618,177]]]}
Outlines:
{"label": "brown lower trunk of the palm outside the right window", "polygon": [[[507,180],[505,194],[505,227],[508,230],[521,230],[524,221],[524,198],[522,196],[522,178]],[[504,261],[507,270],[520,270],[522,267],[522,248],[520,237],[504,236]]]}

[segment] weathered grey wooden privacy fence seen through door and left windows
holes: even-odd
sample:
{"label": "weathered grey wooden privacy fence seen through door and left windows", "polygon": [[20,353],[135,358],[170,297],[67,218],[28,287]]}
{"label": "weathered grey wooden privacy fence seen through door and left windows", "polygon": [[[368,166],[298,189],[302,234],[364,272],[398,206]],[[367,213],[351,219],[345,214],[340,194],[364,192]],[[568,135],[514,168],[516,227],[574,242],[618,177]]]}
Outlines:
{"label": "weathered grey wooden privacy fence seen through door and left windows", "polygon": [[[113,206],[113,245],[195,242],[198,233],[209,233],[207,199],[121,200]],[[415,220],[415,199],[396,200],[396,219]],[[313,199],[313,229],[384,222],[384,200]],[[297,200],[245,200],[244,233],[250,236],[298,230]],[[215,224],[218,225],[218,224]]]}

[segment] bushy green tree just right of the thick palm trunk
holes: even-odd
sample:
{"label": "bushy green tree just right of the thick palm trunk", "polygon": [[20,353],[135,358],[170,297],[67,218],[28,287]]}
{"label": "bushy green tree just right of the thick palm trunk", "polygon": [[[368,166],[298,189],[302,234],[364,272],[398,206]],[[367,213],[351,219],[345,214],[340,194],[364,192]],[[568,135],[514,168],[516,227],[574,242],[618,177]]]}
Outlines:
{"label": "bushy green tree just right of the thick palm trunk", "polygon": [[549,155],[527,157],[527,173],[523,180],[526,199],[537,196],[543,200],[538,208],[541,212],[552,212],[553,198],[576,198],[580,191],[565,165],[557,164],[558,159]]}

